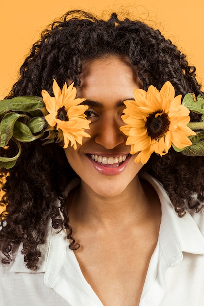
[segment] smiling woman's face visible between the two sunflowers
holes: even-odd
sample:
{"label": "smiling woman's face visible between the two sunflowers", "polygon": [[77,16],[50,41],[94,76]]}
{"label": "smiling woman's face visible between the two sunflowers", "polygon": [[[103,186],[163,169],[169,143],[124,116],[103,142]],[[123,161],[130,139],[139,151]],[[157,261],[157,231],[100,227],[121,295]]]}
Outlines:
{"label": "smiling woman's face visible between the two sunflowers", "polygon": [[134,179],[142,164],[130,155],[127,136],[120,130],[124,100],[133,99],[133,90],[141,88],[136,68],[126,57],[109,56],[86,61],[80,75],[77,97],[86,98],[86,115],[91,121],[91,138],[83,138],[77,149],[65,149],[68,162],[82,184],[100,196],[119,195]]}

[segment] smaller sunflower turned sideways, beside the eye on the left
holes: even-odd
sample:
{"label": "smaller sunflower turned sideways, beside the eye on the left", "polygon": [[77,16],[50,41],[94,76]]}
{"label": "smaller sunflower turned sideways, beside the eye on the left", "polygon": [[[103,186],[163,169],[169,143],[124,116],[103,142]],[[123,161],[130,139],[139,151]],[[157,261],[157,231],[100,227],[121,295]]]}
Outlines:
{"label": "smaller sunflower turned sideways, beside the eye on the left", "polygon": [[67,87],[65,83],[61,91],[54,80],[52,87],[54,97],[51,97],[46,90],[42,90],[42,97],[49,112],[45,119],[51,127],[56,126],[59,131],[59,141],[64,140],[64,148],[68,147],[70,141],[71,146],[76,149],[76,142],[82,144],[83,137],[90,137],[84,129],[89,129],[91,121],[87,120],[84,114],[88,106],[79,105],[86,99],[75,99],[77,90],[73,85],[74,83]]}

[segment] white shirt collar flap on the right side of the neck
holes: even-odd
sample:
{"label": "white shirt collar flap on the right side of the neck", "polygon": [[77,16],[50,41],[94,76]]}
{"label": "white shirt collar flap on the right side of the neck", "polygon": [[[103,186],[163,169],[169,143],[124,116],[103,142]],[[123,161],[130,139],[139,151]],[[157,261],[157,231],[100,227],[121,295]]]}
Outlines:
{"label": "white shirt collar flap on the right side of the neck", "polygon": [[168,266],[179,264],[183,258],[182,252],[204,254],[204,236],[191,214],[186,212],[185,216],[178,217],[162,185],[150,175],[144,175],[144,178],[156,190],[161,202],[162,219],[158,241]]}

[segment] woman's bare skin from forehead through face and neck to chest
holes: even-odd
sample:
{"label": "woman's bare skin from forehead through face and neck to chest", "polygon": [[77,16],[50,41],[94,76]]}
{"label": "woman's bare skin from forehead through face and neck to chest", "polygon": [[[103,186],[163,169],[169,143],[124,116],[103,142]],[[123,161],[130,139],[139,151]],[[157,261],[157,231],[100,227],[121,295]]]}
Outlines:
{"label": "woman's bare skin from forehead through face and neck to chest", "polygon": [[[123,101],[133,99],[133,90],[142,84],[130,61],[117,55],[85,62],[80,79],[77,96],[86,97],[91,138],[76,150],[65,149],[81,178],[80,187],[67,201],[73,236],[80,244],[75,255],[104,305],[137,305],[158,238],[160,202],[151,186],[140,182],[142,163],[135,164],[119,128],[124,125]],[[148,240],[145,248],[144,240]]]}

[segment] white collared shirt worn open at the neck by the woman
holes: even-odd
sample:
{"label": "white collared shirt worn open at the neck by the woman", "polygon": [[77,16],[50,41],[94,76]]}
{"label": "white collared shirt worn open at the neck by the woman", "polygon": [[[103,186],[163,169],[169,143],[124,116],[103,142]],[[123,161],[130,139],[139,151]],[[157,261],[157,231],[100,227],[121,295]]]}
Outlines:
{"label": "white collared shirt worn open at the neck by the woman", "polygon": [[[139,306],[204,306],[204,216],[179,218],[161,185],[146,179],[158,193],[162,219]],[[103,306],[64,231],[49,225],[37,272],[25,267],[21,249],[10,266],[0,265],[0,306]]]}

